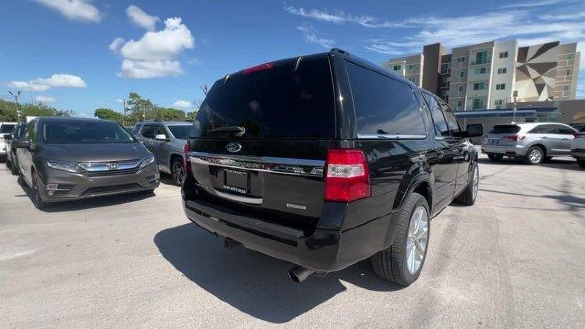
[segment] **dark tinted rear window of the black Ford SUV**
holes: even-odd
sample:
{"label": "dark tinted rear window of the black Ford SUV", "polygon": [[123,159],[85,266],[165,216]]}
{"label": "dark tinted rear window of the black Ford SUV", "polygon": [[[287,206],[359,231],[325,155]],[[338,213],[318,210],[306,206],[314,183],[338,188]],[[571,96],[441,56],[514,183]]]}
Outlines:
{"label": "dark tinted rear window of the black Ford SUV", "polygon": [[194,138],[333,138],[335,111],[326,57],[274,63],[218,80],[193,122]]}

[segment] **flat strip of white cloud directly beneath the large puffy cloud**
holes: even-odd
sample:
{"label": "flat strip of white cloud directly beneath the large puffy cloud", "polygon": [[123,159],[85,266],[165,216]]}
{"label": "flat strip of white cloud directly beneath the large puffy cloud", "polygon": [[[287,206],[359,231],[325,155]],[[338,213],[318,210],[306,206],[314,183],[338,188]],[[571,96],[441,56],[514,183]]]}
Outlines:
{"label": "flat strip of white cloud directly beneath the large puffy cloud", "polygon": [[183,73],[181,63],[174,60],[129,60],[122,61],[119,76],[125,78],[156,78],[178,76]]}

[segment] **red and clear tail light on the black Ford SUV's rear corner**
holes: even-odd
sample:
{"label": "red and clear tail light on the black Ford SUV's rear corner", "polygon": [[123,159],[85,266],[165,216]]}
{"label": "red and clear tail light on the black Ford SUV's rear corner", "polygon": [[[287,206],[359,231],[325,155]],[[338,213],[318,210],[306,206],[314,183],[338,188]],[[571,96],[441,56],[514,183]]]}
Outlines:
{"label": "red and clear tail light on the black Ford SUV's rear corner", "polygon": [[362,150],[331,149],[326,165],[325,201],[349,203],[370,196],[370,170]]}

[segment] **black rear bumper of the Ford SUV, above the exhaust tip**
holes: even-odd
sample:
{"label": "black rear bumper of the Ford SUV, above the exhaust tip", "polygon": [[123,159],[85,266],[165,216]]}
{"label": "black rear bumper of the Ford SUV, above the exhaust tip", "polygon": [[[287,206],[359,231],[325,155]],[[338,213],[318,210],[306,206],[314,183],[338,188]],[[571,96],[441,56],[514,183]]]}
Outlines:
{"label": "black rear bumper of the Ford SUV, above the exhaust tip", "polygon": [[209,232],[229,237],[246,248],[306,268],[334,272],[353,265],[387,248],[393,214],[367,222],[347,231],[319,229],[310,237],[302,231],[226,214],[202,201],[183,199],[189,220]]}

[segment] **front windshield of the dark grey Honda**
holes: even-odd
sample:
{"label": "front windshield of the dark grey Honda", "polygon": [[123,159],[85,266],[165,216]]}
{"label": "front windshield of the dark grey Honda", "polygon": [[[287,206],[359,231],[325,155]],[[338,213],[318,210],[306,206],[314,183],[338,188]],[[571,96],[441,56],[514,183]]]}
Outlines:
{"label": "front windshield of the dark grey Honda", "polygon": [[43,124],[47,144],[134,143],[122,126],[108,121],[55,121]]}

